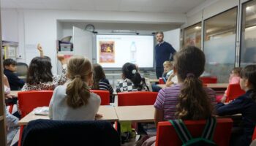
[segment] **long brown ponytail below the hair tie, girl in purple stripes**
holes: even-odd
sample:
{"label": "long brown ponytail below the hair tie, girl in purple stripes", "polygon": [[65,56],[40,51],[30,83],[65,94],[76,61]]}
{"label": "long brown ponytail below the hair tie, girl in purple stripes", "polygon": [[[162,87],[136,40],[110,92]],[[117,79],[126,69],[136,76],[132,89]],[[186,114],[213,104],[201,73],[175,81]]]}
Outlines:
{"label": "long brown ponytail below the hair tie, girl in purple stripes", "polygon": [[176,118],[199,120],[211,117],[212,113],[213,107],[202,82],[188,75],[178,97]]}

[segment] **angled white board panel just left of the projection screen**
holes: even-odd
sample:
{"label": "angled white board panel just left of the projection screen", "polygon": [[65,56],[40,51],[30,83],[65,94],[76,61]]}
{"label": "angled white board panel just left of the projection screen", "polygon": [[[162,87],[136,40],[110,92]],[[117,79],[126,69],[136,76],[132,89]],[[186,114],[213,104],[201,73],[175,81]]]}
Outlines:
{"label": "angled white board panel just left of the projection screen", "polygon": [[93,33],[73,26],[74,55],[83,55],[92,61]]}

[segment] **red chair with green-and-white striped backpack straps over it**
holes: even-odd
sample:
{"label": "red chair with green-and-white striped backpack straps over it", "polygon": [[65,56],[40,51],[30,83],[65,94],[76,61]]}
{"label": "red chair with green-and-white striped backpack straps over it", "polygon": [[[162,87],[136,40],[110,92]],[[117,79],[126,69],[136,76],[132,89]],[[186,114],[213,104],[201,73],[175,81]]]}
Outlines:
{"label": "red chair with green-and-white striped backpack straps over it", "polygon": [[[206,126],[206,120],[185,120],[188,130],[192,137],[200,137]],[[233,120],[230,118],[217,118],[217,125],[214,133],[214,142],[219,146],[229,145],[231,128]],[[175,128],[170,122],[159,122],[157,126],[156,146],[179,146],[182,145],[181,140],[176,134]]]}

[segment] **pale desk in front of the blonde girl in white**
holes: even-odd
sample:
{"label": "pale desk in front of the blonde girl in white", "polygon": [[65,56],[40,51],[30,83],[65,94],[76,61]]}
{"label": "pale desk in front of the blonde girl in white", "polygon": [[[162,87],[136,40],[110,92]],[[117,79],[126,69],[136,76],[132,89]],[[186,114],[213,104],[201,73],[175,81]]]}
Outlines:
{"label": "pale desk in front of the blonde girl in white", "polygon": [[[118,120],[115,108],[112,106],[100,106],[99,107],[99,114],[102,114],[103,117],[99,118],[97,120],[108,120],[110,122]],[[27,125],[29,121],[31,120],[37,120],[37,119],[49,119],[48,115],[34,115],[33,112],[30,112],[28,115],[26,115],[24,118],[19,120],[18,124],[20,126]]]}

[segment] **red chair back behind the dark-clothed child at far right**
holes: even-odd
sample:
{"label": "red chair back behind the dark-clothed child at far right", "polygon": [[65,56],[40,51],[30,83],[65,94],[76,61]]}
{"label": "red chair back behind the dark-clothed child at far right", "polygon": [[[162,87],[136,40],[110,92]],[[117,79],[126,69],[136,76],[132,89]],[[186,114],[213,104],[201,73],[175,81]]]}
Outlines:
{"label": "red chair back behind the dark-clothed child at far right", "polygon": [[238,96],[241,96],[245,93],[245,91],[243,91],[240,87],[239,84],[230,84],[227,87],[227,99],[226,102],[228,101],[232,101],[236,98],[238,98]]}

